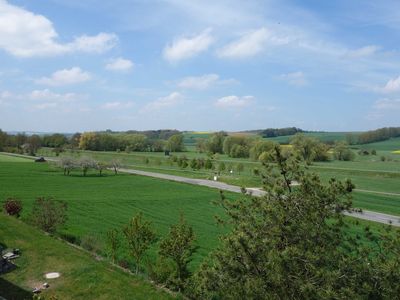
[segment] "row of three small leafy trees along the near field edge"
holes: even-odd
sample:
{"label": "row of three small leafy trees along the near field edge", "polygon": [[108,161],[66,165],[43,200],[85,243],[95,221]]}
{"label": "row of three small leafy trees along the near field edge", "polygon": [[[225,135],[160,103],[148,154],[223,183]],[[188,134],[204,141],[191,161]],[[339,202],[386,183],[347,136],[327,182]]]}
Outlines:
{"label": "row of three small leafy trees along the near field edge", "polygon": [[[193,229],[182,214],[179,222],[172,225],[169,233],[160,241],[151,222],[145,220],[141,213],[135,215],[122,230],[108,231],[107,253],[114,263],[121,247],[121,237],[124,238],[129,254],[135,262],[136,274],[146,269],[148,275],[157,283],[163,283],[177,291],[186,289],[191,275],[188,265],[197,248],[194,245]],[[157,241],[159,241],[158,258],[153,263],[148,262],[145,268],[144,257]]]}

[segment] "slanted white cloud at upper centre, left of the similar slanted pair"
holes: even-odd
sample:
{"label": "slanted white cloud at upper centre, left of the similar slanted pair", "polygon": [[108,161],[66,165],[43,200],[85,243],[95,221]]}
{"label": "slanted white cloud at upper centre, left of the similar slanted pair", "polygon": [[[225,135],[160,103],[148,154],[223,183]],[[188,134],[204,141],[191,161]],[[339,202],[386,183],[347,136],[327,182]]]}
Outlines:
{"label": "slanted white cloud at upper centre, left of the similar slanted pair", "polygon": [[165,46],[163,55],[170,62],[178,62],[206,51],[213,40],[211,29],[206,29],[196,36],[175,39],[172,44]]}

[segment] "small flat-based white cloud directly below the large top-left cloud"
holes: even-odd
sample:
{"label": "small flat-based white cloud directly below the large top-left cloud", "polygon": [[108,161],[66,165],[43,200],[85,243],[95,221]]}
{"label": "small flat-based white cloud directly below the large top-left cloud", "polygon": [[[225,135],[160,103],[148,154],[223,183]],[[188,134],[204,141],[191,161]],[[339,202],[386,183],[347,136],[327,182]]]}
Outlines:
{"label": "small flat-based white cloud directly below the large top-left cloud", "polygon": [[81,83],[90,80],[88,72],[84,72],[79,67],[63,69],[54,72],[50,77],[42,77],[36,80],[36,83],[49,86],[64,86]]}

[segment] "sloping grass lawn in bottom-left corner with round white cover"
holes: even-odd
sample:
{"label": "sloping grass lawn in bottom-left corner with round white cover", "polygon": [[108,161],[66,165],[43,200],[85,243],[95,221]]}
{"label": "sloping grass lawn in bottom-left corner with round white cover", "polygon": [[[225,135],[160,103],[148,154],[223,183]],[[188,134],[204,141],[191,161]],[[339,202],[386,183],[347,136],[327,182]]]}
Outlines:
{"label": "sloping grass lawn in bottom-left corner with round white cover", "polygon": [[[172,299],[147,281],[96,261],[92,255],[44,235],[21,221],[0,214],[0,243],[18,248],[17,268],[0,278],[0,296],[32,299],[34,287],[50,284],[44,297],[57,299]],[[49,272],[60,278],[45,279]],[[47,298],[46,298],[47,299]]]}

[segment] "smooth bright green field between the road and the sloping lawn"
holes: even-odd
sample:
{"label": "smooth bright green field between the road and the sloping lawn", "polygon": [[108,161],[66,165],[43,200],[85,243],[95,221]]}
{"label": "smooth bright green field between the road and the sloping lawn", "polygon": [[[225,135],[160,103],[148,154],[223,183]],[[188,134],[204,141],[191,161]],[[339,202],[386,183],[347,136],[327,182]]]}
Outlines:
{"label": "smooth bright green field between the road and the sloping lawn", "polygon": [[[79,238],[95,235],[103,240],[107,230],[121,228],[138,212],[153,222],[162,237],[183,213],[193,226],[199,246],[193,265],[216,246],[223,232],[214,220],[220,209],[211,204],[219,193],[206,187],[126,174],[64,176],[59,169],[32,161],[0,163],[0,184],[5,187],[0,190],[0,199],[17,197],[23,201],[22,218],[27,217],[36,197],[66,201],[69,220],[63,232]],[[125,251],[120,258],[127,259]]]}

